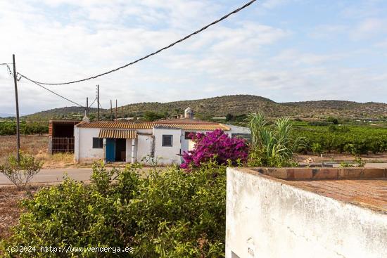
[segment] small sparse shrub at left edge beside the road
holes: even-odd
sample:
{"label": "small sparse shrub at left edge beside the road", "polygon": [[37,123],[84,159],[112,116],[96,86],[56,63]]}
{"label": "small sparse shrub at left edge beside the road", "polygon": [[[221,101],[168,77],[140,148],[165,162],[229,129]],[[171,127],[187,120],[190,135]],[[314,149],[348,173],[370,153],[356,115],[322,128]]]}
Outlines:
{"label": "small sparse shrub at left edge beside the road", "polygon": [[0,172],[20,189],[26,187],[27,183],[39,173],[42,165],[43,163],[35,160],[34,156],[20,153],[20,162],[11,155],[5,165],[0,165]]}

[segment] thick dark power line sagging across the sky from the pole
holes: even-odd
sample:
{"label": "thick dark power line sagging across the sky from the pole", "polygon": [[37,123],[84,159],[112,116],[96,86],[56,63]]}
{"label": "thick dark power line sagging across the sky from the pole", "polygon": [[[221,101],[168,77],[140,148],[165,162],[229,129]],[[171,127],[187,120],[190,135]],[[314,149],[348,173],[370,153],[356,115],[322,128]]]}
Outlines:
{"label": "thick dark power line sagging across the sky from the pole", "polygon": [[28,80],[31,81],[31,82],[38,83],[38,84],[44,84],[44,85],[75,84],[75,83],[77,83],[77,82],[84,82],[84,81],[87,81],[87,80],[89,80],[89,79],[96,79],[97,77],[101,77],[101,76],[103,76],[103,75],[108,75],[108,74],[110,74],[111,72],[116,72],[116,71],[118,71],[118,70],[121,70],[122,68],[128,67],[129,65],[134,65],[135,63],[138,63],[139,61],[144,60],[144,59],[146,59],[146,58],[149,58],[149,57],[151,57],[151,56],[154,56],[154,55],[156,55],[157,53],[160,53],[161,51],[164,51],[165,49],[169,49],[169,48],[171,48],[172,46],[175,46],[176,44],[179,44],[180,42],[182,42],[182,41],[184,41],[184,40],[186,40],[186,39],[189,39],[190,37],[194,36],[195,34],[198,34],[198,33],[200,33],[200,32],[203,32],[203,30],[208,29],[208,27],[210,27],[210,26],[212,26],[212,25],[215,25],[215,24],[217,24],[218,22],[221,22],[222,20],[225,20],[225,19],[229,18],[230,15],[233,15],[234,13],[238,13],[239,11],[243,10],[244,8],[250,6],[250,4],[253,4],[255,1],[256,1],[256,0],[249,1],[249,2],[248,2],[247,4],[245,4],[244,6],[241,6],[241,7],[237,8],[237,9],[235,9],[234,11],[232,11],[231,13],[228,13],[227,15],[224,15],[222,18],[220,18],[220,19],[218,19],[218,20],[215,20],[214,22],[211,22],[211,23],[208,24],[208,25],[205,25],[205,26],[202,27],[200,30],[196,30],[195,32],[192,32],[191,34],[186,35],[186,37],[183,37],[182,39],[179,39],[179,40],[173,42],[172,44],[163,47],[163,49],[158,49],[158,51],[154,51],[153,53],[150,53],[150,54],[148,54],[148,55],[146,55],[146,56],[144,56],[144,57],[142,57],[142,58],[139,58],[139,59],[137,59],[137,60],[134,60],[134,61],[131,62],[131,63],[127,63],[126,65],[122,65],[122,66],[120,66],[120,67],[118,67],[118,68],[115,68],[115,69],[113,69],[113,70],[110,70],[110,71],[108,71],[108,72],[103,72],[103,73],[101,73],[101,74],[99,74],[99,75],[95,75],[95,76],[88,77],[88,78],[85,78],[85,79],[78,79],[78,80],[76,80],[76,81],[71,81],[71,82],[61,82],[61,83],[37,82],[37,81],[34,81],[33,79],[29,79],[28,77],[25,77],[24,75],[20,74],[19,72],[18,72],[18,75],[20,75],[20,77],[24,77],[25,79],[28,79]]}

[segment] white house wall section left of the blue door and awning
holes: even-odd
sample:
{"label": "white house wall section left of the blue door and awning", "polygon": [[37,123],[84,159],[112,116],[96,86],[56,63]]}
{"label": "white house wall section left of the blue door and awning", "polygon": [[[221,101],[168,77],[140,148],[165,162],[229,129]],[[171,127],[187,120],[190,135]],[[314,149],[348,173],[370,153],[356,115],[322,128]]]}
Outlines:
{"label": "white house wall section left of the blue door and awning", "polygon": [[99,136],[98,128],[82,128],[79,127],[78,134],[75,135],[75,143],[77,143],[77,136],[79,138],[78,147],[75,146],[75,151],[79,150],[78,162],[93,162],[95,160],[102,160],[103,149],[93,148],[93,137]]}

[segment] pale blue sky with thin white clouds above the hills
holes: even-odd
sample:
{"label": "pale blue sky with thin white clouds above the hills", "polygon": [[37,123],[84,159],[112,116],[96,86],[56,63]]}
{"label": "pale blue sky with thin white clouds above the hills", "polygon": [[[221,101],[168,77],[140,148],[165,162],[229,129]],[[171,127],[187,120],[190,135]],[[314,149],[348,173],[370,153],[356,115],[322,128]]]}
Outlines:
{"label": "pale blue sky with thin white clouds above the hills", "polygon": [[[40,82],[106,72],[198,30],[248,0],[0,0],[0,63]],[[262,0],[172,49],[79,84],[48,86],[101,106],[253,94],[276,102],[387,96],[387,1]],[[20,113],[72,106],[18,82]],[[15,113],[0,66],[0,113]],[[89,102],[89,103],[90,103]]]}

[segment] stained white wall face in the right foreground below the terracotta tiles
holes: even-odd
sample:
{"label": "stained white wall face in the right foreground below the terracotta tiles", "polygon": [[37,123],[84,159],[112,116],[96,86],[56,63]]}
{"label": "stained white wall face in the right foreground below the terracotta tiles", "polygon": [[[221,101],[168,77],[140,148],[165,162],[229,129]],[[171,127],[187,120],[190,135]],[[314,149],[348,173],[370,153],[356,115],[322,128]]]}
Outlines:
{"label": "stained white wall face in the right foreground below the terracotta tiles", "polygon": [[227,169],[226,257],[387,257],[387,214]]}

